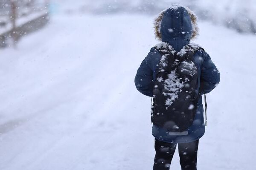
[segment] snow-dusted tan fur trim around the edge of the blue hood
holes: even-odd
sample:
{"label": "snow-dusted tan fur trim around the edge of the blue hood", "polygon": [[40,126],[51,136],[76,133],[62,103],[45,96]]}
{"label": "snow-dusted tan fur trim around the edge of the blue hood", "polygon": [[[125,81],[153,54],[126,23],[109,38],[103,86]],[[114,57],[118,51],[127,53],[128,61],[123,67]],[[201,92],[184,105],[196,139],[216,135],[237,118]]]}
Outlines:
{"label": "snow-dusted tan fur trim around the edge of the blue hood", "polygon": [[[191,9],[189,9],[188,7],[185,7],[185,6],[182,6],[182,5],[179,5],[179,4],[175,4],[175,5],[172,5],[169,8],[177,9],[180,6],[185,8],[189,13],[189,16],[191,18],[191,23],[192,23],[192,37],[191,37],[191,40],[195,40],[196,37],[199,35],[199,28],[198,28],[198,24],[197,24],[197,19],[198,18],[196,16],[195,12],[192,11]],[[158,14],[158,16],[154,19],[154,34],[155,34],[156,39],[160,40],[160,41],[162,41],[160,28],[161,28],[161,23],[162,23],[162,20],[163,20],[163,14],[169,8],[161,11],[160,14]]]}

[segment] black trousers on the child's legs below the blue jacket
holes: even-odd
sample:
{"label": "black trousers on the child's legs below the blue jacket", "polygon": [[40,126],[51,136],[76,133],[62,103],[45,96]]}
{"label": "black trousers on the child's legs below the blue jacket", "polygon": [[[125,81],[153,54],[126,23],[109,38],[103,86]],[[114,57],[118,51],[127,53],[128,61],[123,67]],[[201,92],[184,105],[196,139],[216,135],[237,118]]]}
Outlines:
{"label": "black trousers on the child's legs below the blue jacket", "polygon": [[172,157],[178,145],[182,170],[196,170],[198,140],[189,143],[171,144],[155,139],[156,155],[153,170],[169,170]]}

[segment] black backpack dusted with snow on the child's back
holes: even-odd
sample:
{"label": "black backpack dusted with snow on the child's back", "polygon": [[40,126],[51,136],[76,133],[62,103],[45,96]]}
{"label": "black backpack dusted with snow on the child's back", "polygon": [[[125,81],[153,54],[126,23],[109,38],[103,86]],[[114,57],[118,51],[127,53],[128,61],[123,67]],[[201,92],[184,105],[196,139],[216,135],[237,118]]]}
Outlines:
{"label": "black backpack dusted with snow on the child's back", "polygon": [[196,51],[204,50],[190,43],[176,52],[161,42],[155,46],[162,58],[154,81],[151,121],[172,132],[192,125],[198,103],[198,69],[193,62]]}

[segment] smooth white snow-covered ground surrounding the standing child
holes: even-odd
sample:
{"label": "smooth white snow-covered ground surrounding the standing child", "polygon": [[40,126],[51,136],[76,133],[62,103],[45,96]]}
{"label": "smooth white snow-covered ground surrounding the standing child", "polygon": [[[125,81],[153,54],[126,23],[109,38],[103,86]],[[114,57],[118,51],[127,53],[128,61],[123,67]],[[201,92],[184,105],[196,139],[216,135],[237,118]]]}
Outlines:
{"label": "smooth white snow-covered ground surrounding the standing child", "polygon": [[[0,170],[151,170],[151,98],[134,76],[157,43],[152,20],[55,15],[0,51]],[[207,95],[198,169],[254,170],[256,37],[199,26],[221,82]]]}

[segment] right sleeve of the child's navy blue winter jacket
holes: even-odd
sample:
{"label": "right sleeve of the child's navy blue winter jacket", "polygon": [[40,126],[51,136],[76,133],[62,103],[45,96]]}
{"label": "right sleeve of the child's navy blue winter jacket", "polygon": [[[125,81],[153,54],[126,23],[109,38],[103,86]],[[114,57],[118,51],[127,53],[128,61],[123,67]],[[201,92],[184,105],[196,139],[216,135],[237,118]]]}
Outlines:
{"label": "right sleeve of the child's navy blue winter jacket", "polygon": [[212,91],[220,82],[220,73],[211,57],[205,51],[203,52],[204,62],[201,65],[201,94],[207,94]]}

